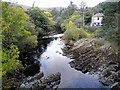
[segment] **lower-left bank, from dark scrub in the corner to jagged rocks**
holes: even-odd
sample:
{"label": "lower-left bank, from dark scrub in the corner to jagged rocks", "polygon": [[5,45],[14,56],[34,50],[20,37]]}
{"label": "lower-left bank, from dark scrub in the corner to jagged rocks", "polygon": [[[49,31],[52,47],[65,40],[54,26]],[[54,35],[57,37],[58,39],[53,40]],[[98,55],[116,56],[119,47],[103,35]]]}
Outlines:
{"label": "lower-left bank, from dark scrub in the corner to jagged rocks", "polygon": [[[61,80],[61,74],[51,74],[47,77],[43,72],[39,72],[34,76],[26,77],[24,74],[24,68],[19,68],[8,72],[2,79],[2,89],[30,89],[30,90],[55,90],[58,88]],[[32,72],[31,72],[32,73]]]}

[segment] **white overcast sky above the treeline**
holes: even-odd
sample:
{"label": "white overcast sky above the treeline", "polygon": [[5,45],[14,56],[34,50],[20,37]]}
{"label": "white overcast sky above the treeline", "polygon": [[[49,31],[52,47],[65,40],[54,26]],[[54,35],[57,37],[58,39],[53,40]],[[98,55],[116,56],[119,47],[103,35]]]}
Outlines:
{"label": "white overcast sky above the treeline", "polygon": [[[2,1],[18,2],[18,4],[23,4],[27,6],[32,6],[33,2],[35,1],[35,6],[38,7],[67,7],[70,1],[73,1],[74,4],[80,5],[80,2],[82,0],[2,0]],[[95,5],[105,0],[83,0],[83,1],[86,2],[87,6],[94,7]]]}

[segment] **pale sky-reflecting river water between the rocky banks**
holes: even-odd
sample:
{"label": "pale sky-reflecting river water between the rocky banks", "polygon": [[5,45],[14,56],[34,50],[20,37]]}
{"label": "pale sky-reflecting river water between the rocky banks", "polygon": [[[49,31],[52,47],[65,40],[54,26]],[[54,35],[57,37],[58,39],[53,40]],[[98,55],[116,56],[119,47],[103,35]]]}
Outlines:
{"label": "pale sky-reflecting river water between the rocky banks", "polygon": [[37,59],[41,63],[40,69],[45,76],[60,72],[61,83],[59,88],[97,88],[97,90],[106,88],[98,81],[97,75],[84,74],[71,68],[69,62],[72,59],[63,56],[61,49],[63,47],[64,43],[59,37],[49,39],[49,42],[45,44],[45,48],[44,45],[40,45],[40,48],[44,50]]}

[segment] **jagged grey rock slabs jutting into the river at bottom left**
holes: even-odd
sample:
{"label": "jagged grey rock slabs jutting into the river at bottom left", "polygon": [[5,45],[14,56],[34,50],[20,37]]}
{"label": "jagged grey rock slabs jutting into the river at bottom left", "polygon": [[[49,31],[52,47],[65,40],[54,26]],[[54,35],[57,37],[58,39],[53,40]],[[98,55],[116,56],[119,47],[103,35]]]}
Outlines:
{"label": "jagged grey rock slabs jutting into the river at bottom left", "polygon": [[34,77],[29,77],[21,84],[20,88],[29,88],[30,90],[55,90],[60,84],[61,74],[51,74],[48,77],[43,77],[43,73],[39,73]]}

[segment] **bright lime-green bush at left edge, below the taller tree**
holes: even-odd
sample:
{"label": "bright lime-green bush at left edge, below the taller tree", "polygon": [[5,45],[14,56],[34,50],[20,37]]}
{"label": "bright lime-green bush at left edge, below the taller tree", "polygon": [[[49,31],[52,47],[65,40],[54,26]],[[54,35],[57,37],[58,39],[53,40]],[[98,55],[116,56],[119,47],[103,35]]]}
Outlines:
{"label": "bright lime-green bush at left edge, below the taller tree", "polygon": [[[3,48],[2,50],[2,75],[5,75],[8,71],[14,70],[21,65],[19,58],[18,47],[11,44],[9,49]],[[1,74],[0,74],[1,76]]]}

